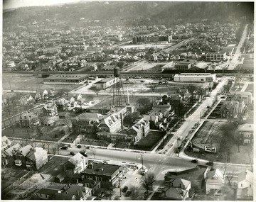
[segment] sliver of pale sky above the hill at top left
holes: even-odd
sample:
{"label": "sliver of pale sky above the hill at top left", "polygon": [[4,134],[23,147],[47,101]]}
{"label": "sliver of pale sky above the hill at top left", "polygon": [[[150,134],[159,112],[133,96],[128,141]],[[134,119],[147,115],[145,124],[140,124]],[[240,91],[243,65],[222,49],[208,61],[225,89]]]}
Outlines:
{"label": "sliver of pale sky above the hill at top left", "polygon": [[13,9],[24,6],[49,6],[53,4],[73,3],[86,0],[3,0],[4,9]]}

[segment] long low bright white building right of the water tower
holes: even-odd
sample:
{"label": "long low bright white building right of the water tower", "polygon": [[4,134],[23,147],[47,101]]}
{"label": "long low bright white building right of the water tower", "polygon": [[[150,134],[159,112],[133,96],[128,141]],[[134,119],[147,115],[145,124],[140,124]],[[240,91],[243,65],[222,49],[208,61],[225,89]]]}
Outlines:
{"label": "long low bright white building right of the water tower", "polygon": [[210,73],[181,73],[175,74],[174,82],[213,82],[216,74]]}

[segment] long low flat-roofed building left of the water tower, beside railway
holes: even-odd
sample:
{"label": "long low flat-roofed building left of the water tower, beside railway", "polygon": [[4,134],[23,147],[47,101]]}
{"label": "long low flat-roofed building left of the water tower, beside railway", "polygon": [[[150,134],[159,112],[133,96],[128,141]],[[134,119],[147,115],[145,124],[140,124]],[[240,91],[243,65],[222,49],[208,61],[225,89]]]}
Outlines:
{"label": "long low flat-roofed building left of the water tower, beside railway", "polygon": [[44,78],[43,83],[80,83],[87,80],[87,76],[81,74],[54,74],[50,77]]}

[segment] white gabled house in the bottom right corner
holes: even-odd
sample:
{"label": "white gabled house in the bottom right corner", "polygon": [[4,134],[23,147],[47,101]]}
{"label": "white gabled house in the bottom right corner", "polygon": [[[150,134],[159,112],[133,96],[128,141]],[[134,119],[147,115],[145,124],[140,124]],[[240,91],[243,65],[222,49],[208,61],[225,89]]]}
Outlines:
{"label": "white gabled house in the bottom right corner", "polygon": [[246,169],[238,174],[237,200],[253,200],[253,173]]}

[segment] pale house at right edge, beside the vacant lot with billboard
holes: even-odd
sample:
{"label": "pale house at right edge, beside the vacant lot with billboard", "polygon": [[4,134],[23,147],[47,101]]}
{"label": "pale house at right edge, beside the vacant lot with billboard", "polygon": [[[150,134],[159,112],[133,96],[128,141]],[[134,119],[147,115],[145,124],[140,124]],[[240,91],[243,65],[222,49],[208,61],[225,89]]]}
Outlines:
{"label": "pale house at right edge, beside the vacant lot with billboard", "polygon": [[253,143],[253,124],[245,123],[238,125],[237,131],[241,144],[247,145]]}

